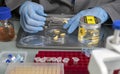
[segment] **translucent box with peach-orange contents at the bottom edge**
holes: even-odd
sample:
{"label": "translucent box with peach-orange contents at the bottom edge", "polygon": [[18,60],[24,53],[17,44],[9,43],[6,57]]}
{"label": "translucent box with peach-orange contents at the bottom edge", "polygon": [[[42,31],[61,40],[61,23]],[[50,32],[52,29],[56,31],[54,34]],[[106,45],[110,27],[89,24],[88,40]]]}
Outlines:
{"label": "translucent box with peach-orange contents at the bottom edge", "polygon": [[10,64],[5,74],[64,74],[62,63]]}

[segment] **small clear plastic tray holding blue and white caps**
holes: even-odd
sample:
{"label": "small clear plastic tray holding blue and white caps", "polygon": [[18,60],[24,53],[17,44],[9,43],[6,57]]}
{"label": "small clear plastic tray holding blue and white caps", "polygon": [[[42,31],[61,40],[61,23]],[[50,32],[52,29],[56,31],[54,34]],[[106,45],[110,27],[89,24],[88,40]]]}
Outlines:
{"label": "small clear plastic tray holding blue and white caps", "polygon": [[0,64],[24,63],[26,62],[27,52],[4,51],[0,53]]}

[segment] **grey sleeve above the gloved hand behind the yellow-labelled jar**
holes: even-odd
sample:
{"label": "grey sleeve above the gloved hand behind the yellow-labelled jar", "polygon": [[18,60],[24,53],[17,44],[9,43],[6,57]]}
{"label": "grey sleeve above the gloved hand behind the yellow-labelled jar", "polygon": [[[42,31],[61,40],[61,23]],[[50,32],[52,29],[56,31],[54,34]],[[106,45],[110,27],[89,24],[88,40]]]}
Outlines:
{"label": "grey sleeve above the gloved hand behind the yellow-labelled jar", "polygon": [[109,14],[112,21],[120,19],[120,0],[101,6]]}

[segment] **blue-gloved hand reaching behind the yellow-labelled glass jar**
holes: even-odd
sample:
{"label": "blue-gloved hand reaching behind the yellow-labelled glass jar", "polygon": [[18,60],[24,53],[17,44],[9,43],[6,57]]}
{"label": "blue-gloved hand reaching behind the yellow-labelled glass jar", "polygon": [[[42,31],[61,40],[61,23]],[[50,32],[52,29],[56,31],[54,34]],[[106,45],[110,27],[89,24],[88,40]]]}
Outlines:
{"label": "blue-gloved hand reaching behind the yellow-labelled glass jar", "polygon": [[101,19],[101,24],[104,23],[108,19],[107,12],[102,9],[101,7],[94,7],[92,9],[86,9],[83,11],[80,11],[77,15],[73,16],[67,24],[65,24],[63,27],[65,29],[68,28],[68,33],[72,33],[80,24],[79,20],[81,17],[86,15],[93,15]]}

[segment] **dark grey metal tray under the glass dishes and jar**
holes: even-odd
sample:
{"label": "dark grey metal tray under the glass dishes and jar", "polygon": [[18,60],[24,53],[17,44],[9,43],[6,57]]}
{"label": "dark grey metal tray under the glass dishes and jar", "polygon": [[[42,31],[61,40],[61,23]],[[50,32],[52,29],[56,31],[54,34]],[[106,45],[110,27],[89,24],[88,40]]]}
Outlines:
{"label": "dark grey metal tray under the glass dishes and jar", "polygon": [[[42,49],[81,49],[83,47],[88,47],[78,41],[78,31],[76,30],[72,34],[67,34],[66,31],[66,38],[64,44],[59,43],[49,43],[49,37],[46,36],[46,32],[49,31],[49,29],[55,29],[53,27],[57,26],[56,29],[63,29],[63,19],[68,19],[68,16],[52,16],[52,18],[49,17],[50,21],[46,22],[45,29],[41,32],[30,34],[27,32],[24,32],[22,28],[20,28],[18,35],[17,35],[17,43],[16,46],[19,48],[42,48]],[[54,19],[53,19],[54,18]],[[70,17],[69,17],[70,18]],[[108,32],[109,31],[109,32]],[[112,29],[105,26],[102,26],[101,33],[100,33],[100,42],[98,44],[98,47],[104,47],[105,39],[107,36],[112,34]],[[38,36],[37,38],[34,38],[34,36]],[[32,37],[33,39],[27,39],[28,44],[24,43],[23,39],[27,37]],[[41,38],[41,39],[40,39]],[[33,41],[33,42],[32,42]],[[35,43],[35,44],[30,44]],[[38,43],[38,44],[36,44]],[[90,46],[93,47],[93,46]]]}

